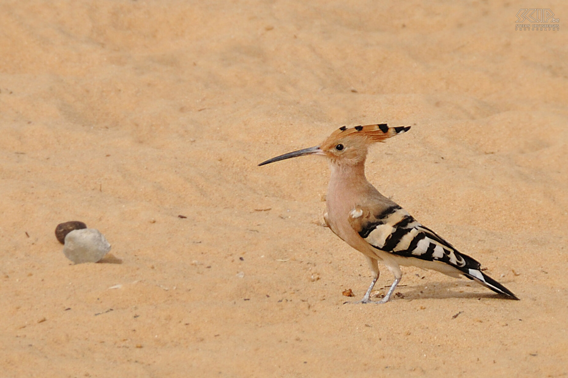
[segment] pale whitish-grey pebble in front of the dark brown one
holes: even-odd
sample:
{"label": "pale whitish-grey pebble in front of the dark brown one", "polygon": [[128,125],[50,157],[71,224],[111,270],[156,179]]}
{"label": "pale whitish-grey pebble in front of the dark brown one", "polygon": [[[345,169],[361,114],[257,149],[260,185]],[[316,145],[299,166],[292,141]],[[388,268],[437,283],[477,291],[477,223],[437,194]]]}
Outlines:
{"label": "pale whitish-grey pebble in front of the dark brown one", "polygon": [[76,264],[100,261],[108,251],[110,244],[94,228],[72,230],[65,236],[63,254]]}

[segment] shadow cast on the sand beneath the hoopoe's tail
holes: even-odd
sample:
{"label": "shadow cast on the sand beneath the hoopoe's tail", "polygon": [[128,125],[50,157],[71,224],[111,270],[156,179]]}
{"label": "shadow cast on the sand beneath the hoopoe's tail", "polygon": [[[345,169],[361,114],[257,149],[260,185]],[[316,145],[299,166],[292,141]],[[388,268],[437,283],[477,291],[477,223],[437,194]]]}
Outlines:
{"label": "shadow cast on the sand beneath the hoopoe's tail", "polygon": [[[414,299],[448,299],[448,298],[463,298],[463,299],[509,299],[511,297],[494,292],[476,293],[472,292],[473,285],[468,285],[468,282],[429,282],[427,285],[408,285],[407,287],[397,288],[393,299],[414,300]],[[475,284],[477,285],[477,284]],[[481,287],[481,286],[480,286]],[[488,289],[487,289],[488,290]],[[386,289],[384,289],[386,292]],[[381,293],[383,289],[381,289]]]}

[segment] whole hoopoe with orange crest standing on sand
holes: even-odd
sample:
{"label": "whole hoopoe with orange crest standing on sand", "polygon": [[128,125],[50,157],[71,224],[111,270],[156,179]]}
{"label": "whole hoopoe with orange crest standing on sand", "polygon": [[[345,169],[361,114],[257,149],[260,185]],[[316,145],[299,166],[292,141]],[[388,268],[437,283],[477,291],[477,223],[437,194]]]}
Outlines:
{"label": "whole hoopoe with orange crest standing on sand", "polygon": [[[458,251],[444,238],[414,219],[405,209],[382,195],[365,177],[368,149],[375,142],[405,133],[410,126],[386,123],[342,126],[320,145],[296,150],[261,162],[258,166],[298,156],[320,155],[329,162],[325,224],[369,264],[373,280],[365,295],[354,303],[386,303],[402,278],[400,266],[435,270],[454,278],[470,280],[513,300],[519,298],[486,275],[474,258]],[[378,262],[394,275],[386,295],[378,301],[370,294],[379,278]]]}

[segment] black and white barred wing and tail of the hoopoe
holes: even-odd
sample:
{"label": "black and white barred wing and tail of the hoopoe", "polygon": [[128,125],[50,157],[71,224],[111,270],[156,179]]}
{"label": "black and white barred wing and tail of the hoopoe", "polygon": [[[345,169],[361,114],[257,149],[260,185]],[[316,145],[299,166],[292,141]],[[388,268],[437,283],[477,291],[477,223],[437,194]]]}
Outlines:
{"label": "black and white barred wing and tail of the hoopoe", "polygon": [[[349,214],[349,222],[364,240],[376,249],[421,261],[441,262],[456,268],[460,274],[500,294],[516,296],[491,277],[483,274],[481,264],[462,254],[431,229],[417,222],[406,210],[392,204],[380,211],[357,206]],[[416,266],[420,266],[417,263]],[[435,268],[428,265],[429,268]],[[447,270],[442,273],[454,275]],[[454,271],[458,273],[457,271]]]}

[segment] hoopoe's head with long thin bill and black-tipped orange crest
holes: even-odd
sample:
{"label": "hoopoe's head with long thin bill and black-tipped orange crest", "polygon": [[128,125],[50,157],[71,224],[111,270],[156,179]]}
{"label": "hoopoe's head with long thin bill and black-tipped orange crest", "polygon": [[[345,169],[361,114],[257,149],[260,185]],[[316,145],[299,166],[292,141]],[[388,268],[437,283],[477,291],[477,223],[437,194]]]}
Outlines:
{"label": "hoopoe's head with long thin bill and black-tipped orange crest", "polygon": [[319,146],[289,152],[259,165],[303,155],[323,155],[338,165],[355,165],[365,162],[367,147],[375,142],[406,132],[410,126],[389,127],[386,123],[356,127],[342,126],[328,136]]}

